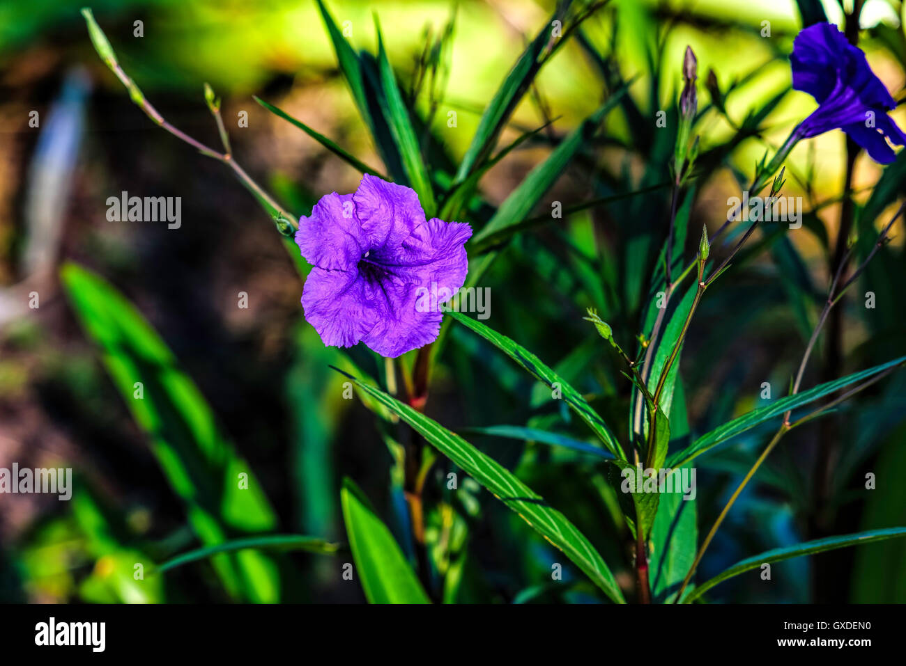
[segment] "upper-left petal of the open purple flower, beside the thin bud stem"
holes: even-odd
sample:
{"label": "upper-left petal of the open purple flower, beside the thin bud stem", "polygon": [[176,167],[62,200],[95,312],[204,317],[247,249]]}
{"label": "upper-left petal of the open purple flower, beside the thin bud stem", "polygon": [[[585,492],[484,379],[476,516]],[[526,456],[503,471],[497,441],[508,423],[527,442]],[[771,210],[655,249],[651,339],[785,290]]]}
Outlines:
{"label": "upper-left petal of the open purple flower, beside the thin bud stem", "polygon": [[368,251],[352,195],[324,195],[310,217],[299,218],[295,243],[305,260],[325,271],[354,269]]}

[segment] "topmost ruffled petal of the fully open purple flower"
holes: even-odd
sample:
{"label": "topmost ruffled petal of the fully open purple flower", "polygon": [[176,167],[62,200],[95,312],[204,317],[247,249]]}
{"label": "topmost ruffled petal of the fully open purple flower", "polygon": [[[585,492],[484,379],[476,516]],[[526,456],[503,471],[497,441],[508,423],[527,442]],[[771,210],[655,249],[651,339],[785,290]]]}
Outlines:
{"label": "topmost ruffled petal of the fully open purple flower", "polygon": [[425,212],[415,190],[377,176],[362,176],[352,200],[371,250],[397,247],[425,224]]}

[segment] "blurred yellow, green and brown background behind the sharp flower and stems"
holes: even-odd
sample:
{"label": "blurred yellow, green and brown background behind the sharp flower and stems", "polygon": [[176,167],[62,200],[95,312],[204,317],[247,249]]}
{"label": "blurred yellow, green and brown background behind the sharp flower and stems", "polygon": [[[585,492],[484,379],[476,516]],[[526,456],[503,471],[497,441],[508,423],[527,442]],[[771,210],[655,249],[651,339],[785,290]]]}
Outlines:
{"label": "blurred yellow, green and brown background behind the sharp flower and stems", "polygon": [[[852,9],[836,2],[800,5],[824,10],[839,24],[843,10]],[[397,519],[392,442],[358,399],[344,399],[342,376],[328,365],[342,366],[346,357],[323,347],[304,322],[292,248],[287,252],[229,169],[155,127],[130,102],[94,52],[80,6],[65,0],[0,6],[0,467],[72,467],[76,478],[68,502],[47,494],[0,495],[0,600],[362,601],[359,586],[340,576],[341,562],[349,560],[342,556],[244,551],[166,576],[132,575],[135,562],[163,562],[224,535],[275,531],[342,543],[343,476],[359,483],[402,540],[406,528]],[[372,14],[380,17],[403,90],[414,90],[425,44],[443,33],[451,14],[446,1],[328,6],[350,42],[369,52],[377,47]],[[446,88],[413,96],[419,117],[429,119],[426,133],[454,164],[553,6],[458,2]],[[204,82],[210,83],[223,98],[236,159],[294,214],[308,214],[324,194],[352,192],[361,175],[253,95],[381,166],[314,2],[98,0],[92,9],[123,69],[164,118],[218,147],[203,96]],[[897,100],[906,71],[902,10],[900,2],[868,0],[861,16],[860,45]],[[651,190],[570,216],[562,229],[526,234],[482,281],[493,295],[489,323],[558,364],[583,392],[605,402],[613,397],[603,410],[618,423],[625,421],[626,386],[581,315],[589,305],[606,312],[606,301],[622,339],[629,343],[639,330],[651,251],[660,248],[670,210],[669,188],[657,187],[670,176],[667,160],[656,157],[653,118],[659,109],[675,114],[682,52],[691,44],[698,56],[703,113],[697,131],[705,158],[691,229],[705,223],[714,229],[757,160],[814,109],[811,97],[790,90],[786,56],[803,24],[801,11],[793,0],[614,0],[545,64],[501,145],[554,122],[481,181],[486,205],[499,204],[597,108],[614,81],[638,75],[630,97],[640,115],[633,117],[629,106],[610,115],[537,212],[545,214],[553,201],[568,208],[594,196]],[[717,89],[708,92],[710,70]],[[906,126],[902,109],[892,115]],[[662,142],[668,154],[671,140]],[[889,170],[906,174],[901,161]],[[680,370],[693,432],[761,404],[763,382],[774,397],[786,391],[826,290],[845,171],[842,133],[797,146],[787,162],[785,195],[804,197],[803,229],[759,234],[728,279],[708,291]],[[881,177],[881,166],[857,158],[854,198],[860,212],[872,213],[860,216],[863,231],[885,222],[885,212],[897,205],[901,177],[891,176],[886,199],[872,200]],[[109,221],[107,198],[123,191],[181,197],[180,228]],[[906,267],[902,234],[895,234],[866,273],[870,285],[856,290],[872,290],[876,308],[863,308],[861,296],[848,301],[834,334],[837,354],[823,343],[806,385],[903,353],[906,295],[896,285],[906,283]],[[65,284],[64,265],[72,266]],[[247,308],[237,305],[240,292]],[[34,293],[38,307],[30,307]],[[77,315],[72,303],[80,299]],[[178,396],[177,414],[170,414],[181,423],[175,430],[166,409],[161,416],[130,404],[123,377],[136,358],[169,368],[161,390]],[[357,367],[378,368],[379,359],[363,358]],[[737,503],[701,575],[805,538],[906,524],[906,485],[892,472],[906,467],[904,382],[895,375],[822,424],[791,435]],[[545,423],[582,433],[581,424],[542,402],[506,358],[465,331],[451,331],[432,385],[433,418],[453,429]],[[713,521],[764,434],[701,461],[699,530]],[[818,453],[829,438],[836,442],[832,462]],[[599,497],[599,472],[581,457],[531,442],[473,441],[564,508],[631,589],[625,534]],[[212,479],[200,508],[180,485],[193,463],[180,457],[179,447],[192,442],[207,451],[196,463]],[[429,488],[440,497],[446,467],[438,467]],[[252,471],[253,499],[231,496],[218,477],[236,469]],[[872,492],[864,491],[867,472],[877,474]],[[581,574],[567,573],[574,585],[551,589],[550,547],[487,492],[466,483],[451,502],[436,503],[428,528],[456,544],[438,556],[440,571],[467,554],[456,559],[464,582],[453,592],[445,588],[452,600],[594,599]],[[753,575],[720,586],[712,598],[906,601],[903,548],[893,540],[799,558],[775,566],[782,585],[762,585]]]}

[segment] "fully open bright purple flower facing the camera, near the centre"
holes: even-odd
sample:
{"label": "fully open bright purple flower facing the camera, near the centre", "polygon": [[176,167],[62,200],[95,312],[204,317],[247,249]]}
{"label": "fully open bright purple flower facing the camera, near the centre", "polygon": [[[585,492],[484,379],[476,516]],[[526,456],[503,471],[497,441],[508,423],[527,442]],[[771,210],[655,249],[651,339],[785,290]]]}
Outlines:
{"label": "fully open bright purple flower facing the camera, near the centre", "polygon": [[[313,265],[302,305],[323,343],[364,342],[398,357],[433,342],[439,304],[466,280],[468,224],[425,220],[409,187],[366,174],[353,195],[321,197],[295,242]],[[439,293],[433,308],[427,293]]]}

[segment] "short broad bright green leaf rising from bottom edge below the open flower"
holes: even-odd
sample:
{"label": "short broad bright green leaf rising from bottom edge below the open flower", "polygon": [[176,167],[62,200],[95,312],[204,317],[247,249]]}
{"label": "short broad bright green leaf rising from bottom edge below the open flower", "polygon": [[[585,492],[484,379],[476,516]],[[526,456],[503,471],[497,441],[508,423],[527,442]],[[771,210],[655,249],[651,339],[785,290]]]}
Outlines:
{"label": "short broad bright green leaf rising from bottom edge below the open flower", "polygon": [[343,522],[369,604],[430,604],[390,529],[350,479],[340,491]]}

